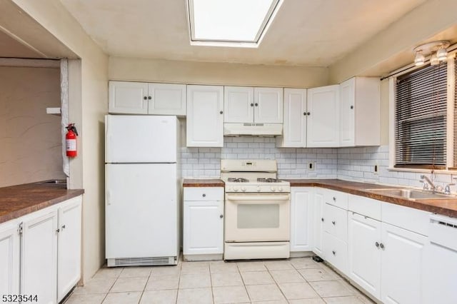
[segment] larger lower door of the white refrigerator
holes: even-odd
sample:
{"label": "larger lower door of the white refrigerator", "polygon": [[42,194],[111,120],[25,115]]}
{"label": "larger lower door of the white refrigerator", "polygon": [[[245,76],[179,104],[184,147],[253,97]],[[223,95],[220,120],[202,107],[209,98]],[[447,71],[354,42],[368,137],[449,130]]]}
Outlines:
{"label": "larger lower door of the white refrigerator", "polygon": [[107,164],[106,258],[176,256],[176,164]]}

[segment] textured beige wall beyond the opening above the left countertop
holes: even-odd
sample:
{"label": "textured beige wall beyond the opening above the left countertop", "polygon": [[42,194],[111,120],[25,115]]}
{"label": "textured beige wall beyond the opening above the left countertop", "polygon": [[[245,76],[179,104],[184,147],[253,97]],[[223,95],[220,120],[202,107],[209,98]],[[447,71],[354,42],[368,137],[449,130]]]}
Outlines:
{"label": "textured beige wall beyond the opening above the left countertop", "polygon": [[65,179],[59,69],[0,66],[0,187]]}

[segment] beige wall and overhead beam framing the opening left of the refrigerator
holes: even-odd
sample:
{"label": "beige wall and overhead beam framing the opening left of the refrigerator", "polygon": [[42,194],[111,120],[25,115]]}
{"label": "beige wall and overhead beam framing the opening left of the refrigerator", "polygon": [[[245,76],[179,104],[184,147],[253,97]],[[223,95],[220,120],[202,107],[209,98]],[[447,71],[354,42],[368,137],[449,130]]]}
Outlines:
{"label": "beige wall and overhead beam framing the opening left of the refrigerator", "polygon": [[[76,121],[79,127],[80,154],[82,171],[71,176],[72,184],[84,188],[83,201],[83,275],[88,280],[104,263],[104,136],[101,131],[104,115],[108,109],[108,57],[96,46],[94,41],[81,28],[81,25],[69,14],[59,0],[11,0],[26,11],[41,26],[44,26],[56,39],[71,49],[81,59],[80,95],[70,100],[70,108],[81,113],[70,116],[81,119]],[[12,12],[9,18],[20,18]],[[36,37],[39,40],[39,37]],[[29,41],[34,43],[34,41]],[[79,75],[79,76],[78,76]],[[71,91],[71,87],[69,90]],[[71,104],[71,103],[80,103]],[[77,174],[80,172],[79,174]],[[78,176],[79,175],[79,176]]]}

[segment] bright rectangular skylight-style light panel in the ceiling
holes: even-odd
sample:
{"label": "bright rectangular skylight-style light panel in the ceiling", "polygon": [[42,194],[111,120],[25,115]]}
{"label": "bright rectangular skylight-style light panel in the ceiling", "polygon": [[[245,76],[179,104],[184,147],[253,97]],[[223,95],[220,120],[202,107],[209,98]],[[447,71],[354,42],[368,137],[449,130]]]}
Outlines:
{"label": "bright rectangular skylight-style light panel in the ceiling", "polygon": [[256,48],[283,0],[188,0],[191,45]]}

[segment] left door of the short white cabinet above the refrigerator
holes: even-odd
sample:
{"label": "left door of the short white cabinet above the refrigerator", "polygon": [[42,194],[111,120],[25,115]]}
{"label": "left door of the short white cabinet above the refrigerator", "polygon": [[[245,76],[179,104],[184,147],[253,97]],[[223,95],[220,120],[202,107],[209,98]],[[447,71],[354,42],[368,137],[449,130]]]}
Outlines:
{"label": "left door of the short white cabinet above the refrigerator", "polygon": [[147,114],[148,83],[109,81],[109,113]]}

